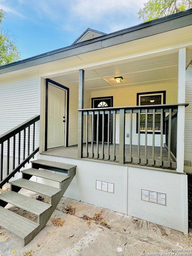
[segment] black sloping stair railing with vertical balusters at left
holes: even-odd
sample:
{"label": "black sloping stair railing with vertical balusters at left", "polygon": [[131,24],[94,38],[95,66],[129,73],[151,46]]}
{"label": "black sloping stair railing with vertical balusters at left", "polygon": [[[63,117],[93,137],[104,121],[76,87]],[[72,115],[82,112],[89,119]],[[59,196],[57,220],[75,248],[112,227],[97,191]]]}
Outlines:
{"label": "black sloping stair railing with vertical balusters at left", "polygon": [[39,119],[36,115],[0,135],[0,188],[39,151],[35,148]]}

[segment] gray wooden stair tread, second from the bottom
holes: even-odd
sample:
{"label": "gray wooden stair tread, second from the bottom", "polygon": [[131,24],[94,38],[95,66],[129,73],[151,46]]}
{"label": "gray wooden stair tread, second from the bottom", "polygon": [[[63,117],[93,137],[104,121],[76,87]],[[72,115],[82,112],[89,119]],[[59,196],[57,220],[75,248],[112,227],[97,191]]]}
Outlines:
{"label": "gray wooden stair tread, second from the bottom", "polygon": [[24,196],[11,190],[1,193],[0,200],[13,204],[16,207],[31,212],[35,215],[40,215],[51,207],[50,204],[41,202],[35,198]]}

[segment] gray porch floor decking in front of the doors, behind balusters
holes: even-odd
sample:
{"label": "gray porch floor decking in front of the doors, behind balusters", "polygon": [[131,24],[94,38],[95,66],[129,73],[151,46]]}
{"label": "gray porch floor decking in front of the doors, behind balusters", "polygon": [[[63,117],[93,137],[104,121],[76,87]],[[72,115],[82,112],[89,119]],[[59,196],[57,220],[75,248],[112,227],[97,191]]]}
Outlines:
{"label": "gray porch floor decking in front of the doors, behind balusters", "polygon": [[[94,155],[96,154],[96,149],[97,145],[96,143],[93,144],[93,152]],[[155,146],[155,161],[160,160],[160,147]],[[113,155],[113,144],[110,144],[110,155]],[[104,143],[104,154],[105,156],[107,155],[107,143]],[[86,152],[86,145],[83,143],[83,154]],[[98,148],[99,154],[102,152],[102,143],[99,143],[99,148]],[[119,144],[116,144],[116,156],[119,156]],[[82,160],[91,160],[91,161],[103,161],[101,158],[92,158],[90,157],[91,154],[91,143],[88,144],[88,153],[89,157],[88,158],[81,158]],[[56,148],[56,149],[49,149],[48,151],[42,152],[41,154],[43,155],[51,155],[51,156],[58,156],[58,157],[64,157],[64,158],[72,158],[72,159],[79,159],[77,157],[77,145],[74,146],[69,146],[69,147],[61,147],[61,148]],[[129,157],[130,155],[130,145],[125,145],[125,157]],[[138,157],[138,146],[137,145],[132,145],[132,158],[137,158]],[[119,158],[119,157],[117,157]],[[140,159],[145,158],[145,146],[140,146]],[[152,146],[147,146],[147,159],[152,159]],[[106,157],[104,160],[107,160]],[[164,162],[168,161],[168,152],[165,147],[163,147],[163,158],[162,160]],[[106,161],[105,161],[106,162]],[[109,163],[116,163],[119,164],[117,161],[107,161]],[[171,158],[171,163],[173,163],[173,159]],[[137,164],[137,163],[134,163]]]}

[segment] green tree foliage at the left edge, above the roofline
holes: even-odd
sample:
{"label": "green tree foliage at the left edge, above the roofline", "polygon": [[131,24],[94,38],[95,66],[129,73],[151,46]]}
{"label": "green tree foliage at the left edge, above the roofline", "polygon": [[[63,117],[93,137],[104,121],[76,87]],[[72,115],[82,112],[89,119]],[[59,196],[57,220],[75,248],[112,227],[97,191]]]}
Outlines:
{"label": "green tree foliage at the left edge, above the roofline", "polygon": [[[4,11],[0,9],[0,24],[2,19],[5,18]],[[10,31],[3,30],[0,26],[0,66],[15,62],[20,59],[20,53],[14,44],[14,41],[10,39],[14,36],[9,35]]]}

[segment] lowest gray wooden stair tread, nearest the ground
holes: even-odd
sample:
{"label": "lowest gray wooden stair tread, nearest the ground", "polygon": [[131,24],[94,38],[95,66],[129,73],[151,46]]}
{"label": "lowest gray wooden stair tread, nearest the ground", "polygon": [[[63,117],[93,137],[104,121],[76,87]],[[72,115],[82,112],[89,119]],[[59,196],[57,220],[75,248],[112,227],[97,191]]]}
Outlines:
{"label": "lowest gray wooden stair tread, nearest the ground", "polygon": [[39,224],[0,206],[0,226],[21,238],[28,236]]}

